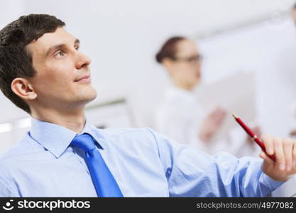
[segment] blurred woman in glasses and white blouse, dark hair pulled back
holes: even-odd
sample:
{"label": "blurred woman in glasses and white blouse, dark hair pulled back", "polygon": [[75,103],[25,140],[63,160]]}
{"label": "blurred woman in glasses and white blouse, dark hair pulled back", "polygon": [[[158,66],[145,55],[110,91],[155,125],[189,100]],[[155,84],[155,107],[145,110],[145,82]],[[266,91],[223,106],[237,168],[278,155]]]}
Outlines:
{"label": "blurred woman in glasses and white blouse, dark hair pulled back", "polygon": [[168,39],[156,55],[170,75],[172,85],[155,116],[155,128],[178,143],[209,151],[207,143],[224,121],[226,111],[215,109],[204,117],[193,89],[201,80],[201,60],[194,41],[184,37]]}

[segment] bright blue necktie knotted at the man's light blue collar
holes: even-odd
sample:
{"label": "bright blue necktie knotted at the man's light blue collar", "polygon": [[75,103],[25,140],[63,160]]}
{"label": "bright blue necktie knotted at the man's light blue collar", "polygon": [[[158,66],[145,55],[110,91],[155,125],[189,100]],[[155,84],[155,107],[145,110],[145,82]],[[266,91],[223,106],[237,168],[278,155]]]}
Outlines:
{"label": "bright blue necktie knotted at the man's light blue collar", "polygon": [[77,135],[71,145],[85,151],[85,161],[98,197],[123,197],[92,136],[87,133]]}

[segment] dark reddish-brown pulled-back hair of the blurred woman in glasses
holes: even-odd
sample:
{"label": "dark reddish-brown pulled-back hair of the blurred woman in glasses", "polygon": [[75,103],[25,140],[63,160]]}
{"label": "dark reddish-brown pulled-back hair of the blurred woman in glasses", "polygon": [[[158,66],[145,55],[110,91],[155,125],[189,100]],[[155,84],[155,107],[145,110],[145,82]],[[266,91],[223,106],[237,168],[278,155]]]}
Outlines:
{"label": "dark reddish-brown pulled-back hair of the blurred woman in glasses", "polygon": [[163,62],[164,58],[174,58],[176,53],[176,46],[180,40],[185,40],[185,37],[182,36],[174,36],[169,38],[163,46],[160,48],[158,53],[155,55],[155,59],[157,62]]}

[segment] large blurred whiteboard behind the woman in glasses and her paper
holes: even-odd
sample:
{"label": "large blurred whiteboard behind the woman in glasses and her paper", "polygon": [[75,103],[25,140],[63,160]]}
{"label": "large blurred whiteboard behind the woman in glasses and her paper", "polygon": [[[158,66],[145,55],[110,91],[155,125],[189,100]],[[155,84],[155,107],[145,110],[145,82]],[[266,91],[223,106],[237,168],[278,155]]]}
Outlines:
{"label": "large blurred whiteboard behind the woman in glasses and her paper", "polygon": [[197,46],[204,55],[205,84],[253,70],[258,124],[263,132],[288,136],[296,127],[290,114],[296,100],[296,28],[290,17],[275,26],[262,22],[204,38]]}

